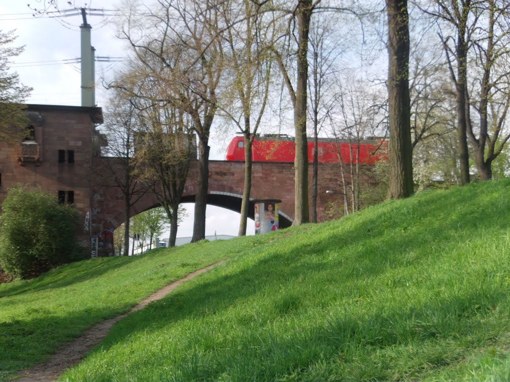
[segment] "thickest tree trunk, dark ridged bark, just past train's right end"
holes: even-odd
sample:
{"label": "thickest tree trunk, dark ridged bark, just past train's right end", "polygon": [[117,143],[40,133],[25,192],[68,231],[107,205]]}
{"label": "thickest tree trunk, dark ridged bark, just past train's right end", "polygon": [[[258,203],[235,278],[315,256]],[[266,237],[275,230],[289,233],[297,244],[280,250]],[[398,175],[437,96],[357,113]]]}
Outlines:
{"label": "thickest tree trunk, dark ridged bark, just past train's right end", "polygon": [[411,98],[409,94],[409,15],[407,0],[386,0],[388,9],[388,102],[390,181],[388,197],[413,194]]}

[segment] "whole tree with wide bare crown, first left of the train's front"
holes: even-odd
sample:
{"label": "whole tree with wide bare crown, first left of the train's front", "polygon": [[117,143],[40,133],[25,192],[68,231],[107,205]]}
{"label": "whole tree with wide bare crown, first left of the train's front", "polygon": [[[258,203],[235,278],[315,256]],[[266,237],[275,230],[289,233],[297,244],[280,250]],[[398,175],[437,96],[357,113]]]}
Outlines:
{"label": "whole tree with wide bare crown, first left of the train's front", "polygon": [[198,135],[198,185],[192,241],[205,237],[209,178],[209,135],[223,72],[220,3],[159,0],[157,7],[131,7],[120,36],[127,40],[146,73],[171,89],[159,101],[189,115]]}

